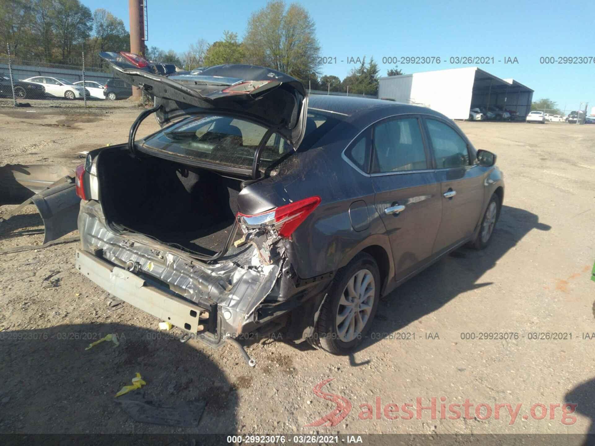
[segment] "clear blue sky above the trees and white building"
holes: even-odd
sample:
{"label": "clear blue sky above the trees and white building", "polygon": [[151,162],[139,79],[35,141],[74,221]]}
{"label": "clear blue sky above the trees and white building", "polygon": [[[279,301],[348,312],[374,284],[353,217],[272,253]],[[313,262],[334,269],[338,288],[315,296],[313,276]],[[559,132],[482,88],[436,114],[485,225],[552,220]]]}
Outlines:
{"label": "clear blue sky above the trees and white building", "polygon": [[[125,0],[82,0],[92,11],[105,8],[129,27]],[[289,3],[289,2],[288,2]],[[404,73],[469,67],[450,64],[451,56],[493,57],[477,66],[500,77],[514,78],[535,90],[533,99],[550,98],[576,109],[581,101],[595,106],[595,2],[587,1],[313,1],[299,2],[317,26],[322,56],[337,64],[322,74],[343,78],[353,64],[348,58],[374,56],[381,74],[393,65],[383,57],[440,56],[440,64],[399,64]],[[186,51],[189,43],[221,39],[224,30],[246,30],[252,11],[264,2],[148,1],[148,46]],[[590,56],[591,64],[540,64],[541,56]],[[518,64],[504,64],[505,58]],[[446,58],[446,61],[444,60]],[[343,62],[341,62],[343,61]],[[498,62],[502,61],[502,62]]]}

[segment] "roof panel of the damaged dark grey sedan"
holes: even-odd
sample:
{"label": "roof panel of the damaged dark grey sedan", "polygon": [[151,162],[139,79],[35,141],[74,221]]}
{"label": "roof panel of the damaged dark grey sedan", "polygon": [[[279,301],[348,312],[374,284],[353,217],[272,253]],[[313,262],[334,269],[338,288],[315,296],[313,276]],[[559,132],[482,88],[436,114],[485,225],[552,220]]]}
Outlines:
{"label": "roof panel of the damaged dark grey sedan", "polygon": [[326,111],[351,117],[366,111],[386,110],[387,114],[424,113],[444,117],[430,108],[385,99],[362,98],[361,96],[310,95],[308,110]]}

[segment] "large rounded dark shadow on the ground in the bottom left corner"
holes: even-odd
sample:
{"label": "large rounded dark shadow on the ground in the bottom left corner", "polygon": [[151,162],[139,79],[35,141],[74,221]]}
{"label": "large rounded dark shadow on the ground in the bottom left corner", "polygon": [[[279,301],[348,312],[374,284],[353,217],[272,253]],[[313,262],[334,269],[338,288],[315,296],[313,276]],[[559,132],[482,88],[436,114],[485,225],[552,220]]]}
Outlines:
{"label": "large rounded dark shadow on the ground in the bottom left corner", "polygon": [[[37,316],[33,308],[27,313]],[[104,341],[85,350],[108,334],[117,335],[120,344]],[[180,343],[171,332],[121,323],[2,331],[0,432],[234,434],[237,391],[250,379],[231,383],[196,349],[196,342]],[[115,398],[137,372],[146,385]],[[206,407],[197,426],[179,428],[134,421],[117,403],[121,398],[139,398],[158,407],[201,402]]]}

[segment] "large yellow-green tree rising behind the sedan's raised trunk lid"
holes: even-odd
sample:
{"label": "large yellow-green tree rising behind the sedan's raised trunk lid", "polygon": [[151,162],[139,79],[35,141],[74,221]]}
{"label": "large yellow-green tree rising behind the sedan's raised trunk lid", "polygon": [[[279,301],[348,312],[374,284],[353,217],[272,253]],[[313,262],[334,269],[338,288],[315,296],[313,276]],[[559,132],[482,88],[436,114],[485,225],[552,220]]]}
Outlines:
{"label": "large yellow-green tree rising behind the sedan's raised trunk lid", "polygon": [[283,0],[270,1],[253,12],[244,37],[245,61],[263,65],[307,80],[309,74],[320,73],[320,45],[316,26],[308,11]]}

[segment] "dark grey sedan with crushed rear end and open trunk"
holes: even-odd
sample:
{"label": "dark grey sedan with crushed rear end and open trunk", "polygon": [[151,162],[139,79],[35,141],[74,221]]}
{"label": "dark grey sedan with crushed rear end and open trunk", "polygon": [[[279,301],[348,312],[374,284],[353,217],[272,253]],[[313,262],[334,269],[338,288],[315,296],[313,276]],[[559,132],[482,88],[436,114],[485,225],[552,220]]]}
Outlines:
{"label": "dark grey sedan with crushed rear end and open trunk", "polygon": [[[127,54],[102,57],[156,107],[128,143],[77,168],[76,268],[187,337],[217,347],[281,330],[347,353],[380,297],[491,241],[496,155],[436,111],[308,97],[251,65],[158,75]],[[162,130],[135,142],[154,112]]]}

